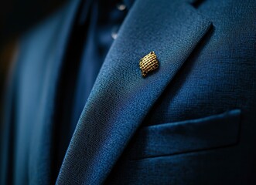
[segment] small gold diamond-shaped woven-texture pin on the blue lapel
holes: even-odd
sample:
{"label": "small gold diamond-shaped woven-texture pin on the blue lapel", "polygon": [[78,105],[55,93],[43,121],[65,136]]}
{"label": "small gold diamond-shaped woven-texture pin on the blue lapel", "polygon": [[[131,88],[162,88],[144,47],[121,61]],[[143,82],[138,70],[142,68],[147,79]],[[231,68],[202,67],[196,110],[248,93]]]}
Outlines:
{"label": "small gold diamond-shaped woven-texture pin on the blue lapel", "polygon": [[149,52],[139,61],[139,68],[142,70],[142,76],[145,77],[148,72],[159,67],[159,62],[156,59],[155,52]]}

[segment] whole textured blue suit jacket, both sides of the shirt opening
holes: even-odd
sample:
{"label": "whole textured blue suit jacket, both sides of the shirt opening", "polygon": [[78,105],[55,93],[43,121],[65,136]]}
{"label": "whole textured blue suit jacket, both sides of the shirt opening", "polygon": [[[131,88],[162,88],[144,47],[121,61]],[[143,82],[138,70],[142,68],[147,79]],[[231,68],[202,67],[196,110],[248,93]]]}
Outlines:
{"label": "whole textured blue suit jacket, both sides of the shirt opening", "polygon": [[[70,2],[22,39],[2,184],[47,184]],[[97,76],[56,184],[256,184],[253,0],[137,0]],[[40,45],[38,45],[40,43]],[[159,69],[143,78],[139,59]]]}

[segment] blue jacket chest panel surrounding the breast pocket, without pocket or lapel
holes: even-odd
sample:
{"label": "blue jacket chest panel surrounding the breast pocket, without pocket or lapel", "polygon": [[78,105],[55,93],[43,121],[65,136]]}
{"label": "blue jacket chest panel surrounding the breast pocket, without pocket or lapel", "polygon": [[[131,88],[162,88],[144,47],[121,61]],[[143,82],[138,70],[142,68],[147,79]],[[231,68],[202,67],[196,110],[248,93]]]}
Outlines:
{"label": "blue jacket chest panel surrounding the breast pocket, without pocket or lapel", "polygon": [[[199,119],[239,108],[241,129],[238,142],[231,146],[169,156],[138,158],[138,160],[134,156],[132,160],[131,149],[138,138],[135,135],[126,146],[118,163],[115,163],[106,183],[255,184],[256,182],[254,176],[256,172],[254,157],[256,155],[254,134],[256,37],[255,32],[251,32],[256,29],[255,2],[200,1],[193,6],[197,8],[196,12],[213,22],[213,27],[152,106],[142,121],[141,129],[146,127],[146,130],[148,126],[158,124]],[[166,43],[172,45],[171,41]],[[172,62],[169,63],[172,65]],[[148,142],[152,142],[154,137]],[[152,143],[145,143],[141,147],[147,145]],[[183,145],[186,146],[186,143],[179,143],[180,148]],[[172,146],[166,149],[170,147]],[[144,152],[138,151],[138,156],[143,156]]]}

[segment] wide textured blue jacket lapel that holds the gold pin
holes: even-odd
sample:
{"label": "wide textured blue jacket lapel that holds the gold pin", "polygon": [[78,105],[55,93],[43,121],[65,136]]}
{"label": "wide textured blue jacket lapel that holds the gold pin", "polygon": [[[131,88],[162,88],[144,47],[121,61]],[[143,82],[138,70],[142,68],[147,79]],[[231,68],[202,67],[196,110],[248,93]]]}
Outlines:
{"label": "wide textured blue jacket lapel that holds the gold pin", "polygon": [[[94,83],[57,184],[104,182],[211,24],[187,2],[135,2]],[[158,57],[159,69],[143,78],[138,63],[151,51]]]}

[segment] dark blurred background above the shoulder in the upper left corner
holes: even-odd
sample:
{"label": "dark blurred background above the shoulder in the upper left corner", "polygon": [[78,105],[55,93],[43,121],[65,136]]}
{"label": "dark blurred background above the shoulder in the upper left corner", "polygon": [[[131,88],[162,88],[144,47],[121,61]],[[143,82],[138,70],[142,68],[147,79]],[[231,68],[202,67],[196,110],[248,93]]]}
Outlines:
{"label": "dark blurred background above the shoulder in the upper left corner", "polygon": [[[36,23],[60,8],[64,0],[2,0],[0,1],[0,115],[7,76],[12,66],[19,38]],[[1,124],[0,124],[1,125]]]}

